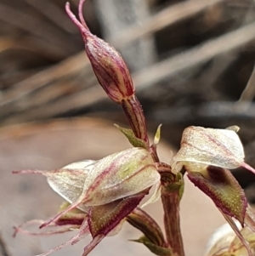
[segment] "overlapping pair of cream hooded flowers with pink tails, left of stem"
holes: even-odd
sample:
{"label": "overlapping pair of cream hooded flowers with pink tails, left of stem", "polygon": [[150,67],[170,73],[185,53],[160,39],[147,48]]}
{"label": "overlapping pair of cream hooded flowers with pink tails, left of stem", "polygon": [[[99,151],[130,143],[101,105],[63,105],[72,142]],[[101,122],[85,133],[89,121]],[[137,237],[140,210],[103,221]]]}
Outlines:
{"label": "overlapping pair of cream hooded flowers with pink tails, left of stem", "polygon": [[[105,236],[122,225],[150,187],[160,180],[150,153],[139,147],[117,152],[99,161],[76,162],[53,171],[23,170],[15,173],[45,175],[48,185],[69,203],[40,228],[68,225],[67,230],[79,229],[70,241],[40,256],[91,234],[93,241],[82,254],[87,255]],[[21,228],[16,232],[19,230]]]}

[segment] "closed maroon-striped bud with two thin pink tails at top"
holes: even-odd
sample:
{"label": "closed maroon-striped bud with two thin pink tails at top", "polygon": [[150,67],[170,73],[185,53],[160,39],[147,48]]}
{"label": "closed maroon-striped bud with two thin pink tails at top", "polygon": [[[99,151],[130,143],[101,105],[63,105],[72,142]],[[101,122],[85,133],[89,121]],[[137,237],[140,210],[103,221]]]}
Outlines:
{"label": "closed maroon-striped bud with two thin pink tails at top", "polygon": [[104,88],[105,93],[111,100],[121,103],[122,100],[134,94],[132,78],[127,69],[127,65],[124,60],[122,60],[121,54],[119,54],[115,48],[111,47],[110,44],[105,43],[104,40],[94,36],[89,31],[82,17],[83,2],[84,1],[80,1],[79,8],[81,22],[71,13],[69,3],[66,3],[66,12],[82,32],[88,59],[91,62],[100,85]]}

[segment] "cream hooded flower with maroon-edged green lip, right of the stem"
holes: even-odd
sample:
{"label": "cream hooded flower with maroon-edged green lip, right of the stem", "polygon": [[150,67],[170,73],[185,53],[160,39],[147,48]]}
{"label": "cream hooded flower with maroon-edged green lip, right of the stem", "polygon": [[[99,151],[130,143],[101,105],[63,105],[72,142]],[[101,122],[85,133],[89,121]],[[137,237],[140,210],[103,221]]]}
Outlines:
{"label": "cream hooded flower with maroon-edged green lip, right of the stem", "polygon": [[181,168],[187,171],[190,181],[212,199],[248,255],[252,256],[246,237],[232,219],[255,232],[254,213],[247,204],[244,191],[229,171],[244,167],[255,174],[255,170],[244,162],[243,146],[236,134],[238,130],[236,126],[226,129],[184,129],[181,147],[173,157],[172,167],[176,172]]}

